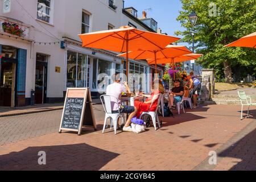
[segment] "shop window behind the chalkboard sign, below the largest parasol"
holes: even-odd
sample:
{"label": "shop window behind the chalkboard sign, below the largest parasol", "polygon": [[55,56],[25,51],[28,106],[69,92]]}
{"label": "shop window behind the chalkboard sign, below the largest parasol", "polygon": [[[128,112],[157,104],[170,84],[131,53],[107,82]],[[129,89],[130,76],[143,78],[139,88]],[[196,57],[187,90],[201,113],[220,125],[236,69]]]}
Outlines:
{"label": "shop window behind the chalkboard sign, below the largest parasol", "polygon": [[[90,88],[92,96],[97,96],[98,88],[105,90],[105,85],[111,84],[111,75],[117,65],[108,59],[73,50],[67,51],[67,84],[66,88]],[[99,80],[98,78],[102,78]],[[106,81],[105,84],[104,81]]]}

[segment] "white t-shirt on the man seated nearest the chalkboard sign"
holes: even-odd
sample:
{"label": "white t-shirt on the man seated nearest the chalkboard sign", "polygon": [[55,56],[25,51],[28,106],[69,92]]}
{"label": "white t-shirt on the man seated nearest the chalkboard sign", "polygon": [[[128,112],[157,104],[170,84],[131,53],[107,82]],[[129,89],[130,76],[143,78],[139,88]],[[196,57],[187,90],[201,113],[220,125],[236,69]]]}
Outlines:
{"label": "white t-shirt on the man seated nearest the chalkboard sign", "polygon": [[117,82],[114,82],[113,84],[110,84],[106,88],[106,94],[110,96],[115,96],[118,98],[118,104],[116,103],[117,100],[114,97],[110,97],[111,101],[111,109],[112,110],[119,110],[121,107],[121,96],[123,92],[123,86]]}

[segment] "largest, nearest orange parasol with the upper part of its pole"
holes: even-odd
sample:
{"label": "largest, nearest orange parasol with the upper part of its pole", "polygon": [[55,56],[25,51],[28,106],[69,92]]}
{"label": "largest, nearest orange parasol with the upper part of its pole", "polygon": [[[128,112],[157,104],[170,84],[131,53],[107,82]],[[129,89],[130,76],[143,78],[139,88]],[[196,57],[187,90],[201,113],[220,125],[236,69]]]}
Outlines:
{"label": "largest, nearest orange parasol with the upper part of its pole", "polygon": [[138,49],[164,49],[179,38],[138,30],[134,27],[120,27],[116,30],[98,31],[79,35],[82,47],[126,52],[126,76],[128,76],[129,51]]}

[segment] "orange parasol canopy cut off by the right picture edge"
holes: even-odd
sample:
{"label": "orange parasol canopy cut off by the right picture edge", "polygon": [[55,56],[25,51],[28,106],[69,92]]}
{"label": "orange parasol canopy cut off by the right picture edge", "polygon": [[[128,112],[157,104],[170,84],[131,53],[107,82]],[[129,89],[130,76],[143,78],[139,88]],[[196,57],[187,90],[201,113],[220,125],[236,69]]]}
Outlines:
{"label": "orange parasol canopy cut off by the right picture edge", "polygon": [[256,48],[256,32],[246,35],[241,39],[226,45],[225,47],[251,47]]}

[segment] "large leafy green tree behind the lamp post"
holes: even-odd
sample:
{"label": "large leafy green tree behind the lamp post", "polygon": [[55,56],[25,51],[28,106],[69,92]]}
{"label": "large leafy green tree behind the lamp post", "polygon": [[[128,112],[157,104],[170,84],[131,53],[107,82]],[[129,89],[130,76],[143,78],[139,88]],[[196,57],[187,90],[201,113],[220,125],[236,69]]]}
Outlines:
{"label": "large leafy green tree behind the lamp post", "polygon": [[[236,77],[247,69],[249,72],[254,69],[252,74],[255,74],[255,49],[224,46],[256,31],[256,0],[181,0],[181,3],[183,11],[177,20],[185,30],[177,31],[176,35],[184,36],[181,42],[192,44],[191,32],[195,31],[196,51],[204,55],[197,63],[216,69],[217,76],[225,76],[226,82],[232,81],[232,69]],[[188,20],[192,11],[199,16],[194,30]]]}

